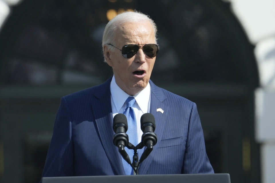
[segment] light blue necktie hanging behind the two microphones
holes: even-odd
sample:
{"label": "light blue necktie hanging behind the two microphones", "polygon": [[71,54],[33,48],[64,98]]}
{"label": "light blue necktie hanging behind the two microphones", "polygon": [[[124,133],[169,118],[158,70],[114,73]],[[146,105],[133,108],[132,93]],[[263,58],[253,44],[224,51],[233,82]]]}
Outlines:
{"label": "light blue necktie hanging behind the two microphones", "polygon": [[[129,142],[134,146],[136,146],[137,145],[137,121],[135,119],[135,112],[132,108],[134,104],[135,104],[135,98],[128,97],[126,100],[126,109],[123,112],[123,114],[126,116],[127,122],[128,122],[127,134],[129,136]],[[131,162],[133,162],[134,150],[128,149],[126,147],[125,147],[125,150],[129,155]],[[122,163],[125,170],[125,174],[133,175],[132,167],[125,160],[122,160]]]}

